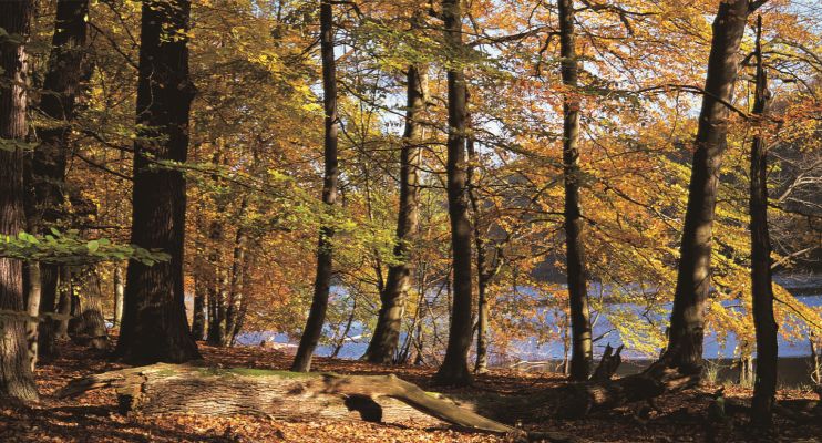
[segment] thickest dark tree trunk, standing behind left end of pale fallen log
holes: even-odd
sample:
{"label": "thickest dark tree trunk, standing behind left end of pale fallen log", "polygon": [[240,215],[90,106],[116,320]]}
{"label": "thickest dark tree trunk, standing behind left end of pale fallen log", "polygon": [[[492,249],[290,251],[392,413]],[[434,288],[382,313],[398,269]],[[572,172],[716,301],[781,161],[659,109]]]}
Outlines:
{"label": "thickest dark tree trunk, standing behind left end of pale fallen log", "polygon": [[189,10],[188,0],[143,2],[132,243],[160,248],[171,259],[154,266],[129,262],[116,354],[133,363],[199,358],[188,331],[183,293],[185,177],[178,169],[153,164],[186,161],[194,97],[186,37]]}

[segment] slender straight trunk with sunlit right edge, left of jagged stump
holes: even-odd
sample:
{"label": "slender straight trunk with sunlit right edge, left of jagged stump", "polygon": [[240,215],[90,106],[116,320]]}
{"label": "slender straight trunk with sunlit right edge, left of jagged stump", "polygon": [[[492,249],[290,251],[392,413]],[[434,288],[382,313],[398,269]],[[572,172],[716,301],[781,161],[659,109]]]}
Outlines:
{"label": "slender straight trunk with sunlit right edge, left of jagged stump", "polygon": [[559,45],[563,84],[563,175],[565,178],[565,249],[571,311],[571,379],[587,380],[594,358],[590,342],[590,312],[585,276],[582,203],[579,202],[579,97],[577,87],[574,1],[559,0]]}

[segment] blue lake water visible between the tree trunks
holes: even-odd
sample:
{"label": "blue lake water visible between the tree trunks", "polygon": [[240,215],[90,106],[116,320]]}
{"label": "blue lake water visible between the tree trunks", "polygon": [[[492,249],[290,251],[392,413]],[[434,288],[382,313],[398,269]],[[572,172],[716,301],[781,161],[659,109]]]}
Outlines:
{"label": "blue lake water visible between the tree trunks", "polygon": [[[785,281],[779,282],[784,284]],[[819,284],[816,281],[815,284]],[[792,286],[792,285],[785,285],[785,286]],[[789,288],[790,289],[790,288]],[[532,291],[520,289],[521,293],[528,293]],[[816,293],[818,291],[813,291]],[[805,305],[810,307],[820,307],[822,306],[822,293],[819,295],[811,295],[811,296],[804,296],[804,297],[798,297],[799,301],[804,302]],[[728,301],[723,303],[723,306],[729,307],[733,303],[739,303],[738,301]],[[733,308],[732,308],[733,309]],[[623,338],[620,337],[619,332],[617,330],[614,330],[615,328],[610,323],[608,316],[612,312],[615,312],[617,310],[624,310],[629,313],[634,313],[636,316],[639,316],[640,307],[636,305],[608,305],[605,307],[605,312],[599,317],[598,321],[594,326],[593,337],[599,337],[602,334],[605,334],[605,337],[597,341],[595,343],[595,353],[602,353],[602,350],[605,348],[606,343],[609,343],[613,347],[617,347],[619,344],[623,344]],[[666,305],[657,311],[656,313],[648,313],[646,315],[647,318],[650,318],[655,324],[658,324],[659,328],[664,328],[665,324],[667,324],[667,318],[670,312],[670,303]],[[593,312],[592,318],[596,316],[596,312]],[[548,319],[548,322],[545,323],[545,328],[552,328],[555,329],[555,326],[553,322],[551,322],[551,319],[554,318],[554,316],[544,316],[544,318]],[[643,317],[638,317],[638,319],[641,319]],[[634,324],[634,322],[631,322]],[[330,331],[326,331],[330,332]],[[607,333],[606,333],[607,332]],[[338,357],[343,359],[358,359],[360,358],[364,352],[366,348],[368,347],[368,339],[370,336],[369,331],[366,331],[363,326],[360,323],[353,323],[351,326],[351,330],[349,333],[349,337],[355,337],[356,339],[347,340],[346,343],[342,346]],[[806,332],[805,332],[806,333]],[[720,340],[719,336],[716,332],[709,332],[706,334],[705,338],[705,357],[706,358],[733,358],[738,356],[737,350],[737,337],[733,333],[727,333],[723,334],[725,339]],[[806,337],[806,336],[804,336]],[[240,344],[247,344],[247,346],[256,346],[259,344],[263,340],[271,340],[277,343],[296,343],[291,338],[289,338],[286,333],[278,333],[273,331],[266,331],[266,332],[245,332],[242,333],[237,341]],[[402,338],[404,340],[404,337]],[[332,347],[330,346],[320,346],[317,349],[318,356],[330,356],[332,352]],[[537,338],[530,338],[527,340],[523,341],[516,341],[513,343],[513,346],[510,346],[506,350],[505,357],[507,359],[512,360],[526,360],[526,361],[540,361],[540,360],[552,360],[552,359],[562,359],[564,353],[563,343],[561,340],[549,341],[549,342],[540,342]],[[491,356],[492,361],[494,359],[495,350],[493,347],[493,343],[491,343]],[[658,350],[651,352],[651,353],[643,353],[638,352],[636,350],[630,349],[630,346],[626,346],[626,350],[623,352],[623,354],[628,359],[638,359],[638,358],[654,358],[658,354]],[[806,338],[797,340],[797,341],[788,341],[785,340],[781,334],[779,337],[779,356],[780,357],[804,357],[810,356],[810,343],[808,342]],[[497,356],[499,357],[499,356]]]}

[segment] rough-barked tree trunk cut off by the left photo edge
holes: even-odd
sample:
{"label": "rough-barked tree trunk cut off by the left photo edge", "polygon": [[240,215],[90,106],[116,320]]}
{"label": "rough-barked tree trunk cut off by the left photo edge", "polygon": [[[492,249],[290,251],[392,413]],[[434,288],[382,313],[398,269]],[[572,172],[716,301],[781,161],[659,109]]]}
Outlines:
{"label": "rough-barked tree trunk cut off by the left photo edge", "polygon": [[[17,236],[24,227],[23,146],[28,126],[28,42],[34,6],[30,0],[0,2],[0,28],[22,38],[0,42],[0,235]],[[0,257],[0,310],[24,313],[23,262]],[[0,398],[37,400],[37,387],[27,358],[27,320],[0,316]]]}

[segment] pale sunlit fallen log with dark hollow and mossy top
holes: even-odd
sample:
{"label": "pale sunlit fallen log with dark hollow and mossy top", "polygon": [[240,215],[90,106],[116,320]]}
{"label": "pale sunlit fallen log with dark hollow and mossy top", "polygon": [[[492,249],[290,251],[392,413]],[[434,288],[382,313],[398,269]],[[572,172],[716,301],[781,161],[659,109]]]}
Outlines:
{"label": "pale sunlit fallen log with dark hollow and mossy top", "polygon": [[[115,388],[125,414],[253,414],[296,421],[361,419],[369,422],[448,424],[463,430],[526,437],[516,427],[482,416],[395,375],[339,375],[259,369],[157,363],[71,381],[58,398]],[[379,402],[378,402],[379,400]],[[561,433],[540,440],[572,442]]]}

